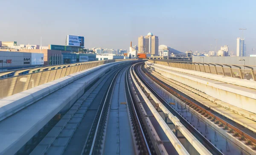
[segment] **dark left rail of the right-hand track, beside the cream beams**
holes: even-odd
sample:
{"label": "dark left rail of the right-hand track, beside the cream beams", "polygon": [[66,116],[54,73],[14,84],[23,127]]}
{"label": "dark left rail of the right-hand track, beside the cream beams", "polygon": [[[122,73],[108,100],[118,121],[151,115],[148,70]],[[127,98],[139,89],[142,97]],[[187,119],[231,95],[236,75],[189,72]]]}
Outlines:
{"label": "dark left rail of the right-hand track, beside the cream beams", "polygon": [[[141,64],[141,63],[140,63]],[[139,64],[137,64],[137,66],[138,66]],[[179,113],[177,113],[177,111],[175,111],[150,85],[148,85],[148,83],[147,82],[145,82],[145,80],[143,79],[143,77],[139,74],[139,72],[138,72],[138,70],[137,70],[137,66],[136,67],[134,67],[135,68],[135,71],[137,72],[137,75],[140,77],[140,79],[142,80],[142,82],[145,84],[145,85],[147,85],[148,86],[148,88],[149,89],[151,89],[152,90],[152,93],[153,94],[155,94],[156,96],[157,96],[157,99],[160,99],[160,101],[163,103],[163,104],[165,104],[165,106],[166,106],[166,108],[168,109],[168,110],[172,110],[173,112],[175,112],[174,113],[174,115],[175,116],[177,116],[177,118],[179,118],[179,120],[180,120],[180,123],[182,123],[183,125],[185,125],[186,124],[186,126],[185,127],[188,127],[191,131],[193,131],[194,132],[194,134],[196,134],[197,135],[197,137],[199,136],[199,138],[201,139],[201,143],[202,143],[202,141],[205,143],[205,144],[207,144],[208,145],[208,149],[210,149],[211,151],[211,153],[213,154],[213,155],[216,155],[216,154],[219,154],[219,155],[224,155],[217,147],[215,147],[211,142],[209,142],[209,140],[207,139],[207,138],[205,138],[204,137],[204,135],[202,135],[200,132],[198,132],[198,130],[196,130],[195,129],[195,127],[192,127],[192,125],[191,124],[189,124],[189,122],[188,121],[186,121],[186,119],[184,119]],[[143,69],[142,69],[143,70]],[[145,70],[143,70],[143,73],[145,73],[144,72]],[[145,73],[146,74],[146,73]],[[146,74],[147,75],[147,74]],[[148,76],[148,75],[147,75]],[[156,82],[157,80],[153,80],[154,82]],[[156,82],[157,84],[159,83],[159,82]],[[161,86],[161,85],[160,85]],[[185,123],[185,124],[184,124]],[[193,135],[194,135],[193,134]],[[204,145],[205,145],[204,144]]]}

